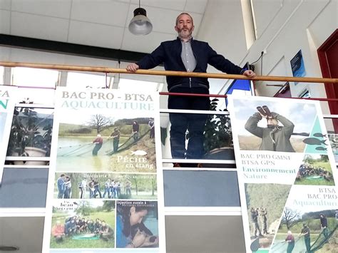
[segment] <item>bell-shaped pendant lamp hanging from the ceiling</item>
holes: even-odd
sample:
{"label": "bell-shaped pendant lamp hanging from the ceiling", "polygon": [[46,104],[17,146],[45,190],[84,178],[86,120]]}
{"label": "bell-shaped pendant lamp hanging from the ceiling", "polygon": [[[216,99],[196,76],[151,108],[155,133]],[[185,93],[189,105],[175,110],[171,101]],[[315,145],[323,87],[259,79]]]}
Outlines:
{"label": "bell-shaped pendant lamp hanging from the ceiling", "polygon": [[130,33],[135,35],[146,35],[153,30],[153,25],[147,18],[147,11],[140,8],[140,0],[138,0],[138,8],[134,10],[134,17],[131,19],[128,29]]}

